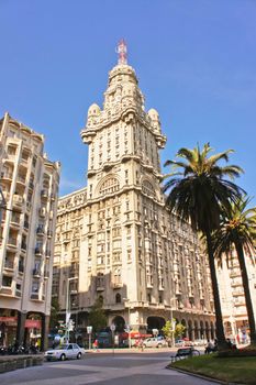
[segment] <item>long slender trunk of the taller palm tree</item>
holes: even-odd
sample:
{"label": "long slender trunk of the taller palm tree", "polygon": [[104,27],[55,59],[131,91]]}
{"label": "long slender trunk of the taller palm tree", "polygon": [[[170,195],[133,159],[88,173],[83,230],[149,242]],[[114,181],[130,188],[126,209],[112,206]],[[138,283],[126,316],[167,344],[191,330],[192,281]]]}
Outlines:
{"label": "long slender trunk of the taller palm tree", "polygon": [[227,348],[227,344],[226,344],[224,327],[223,327],[221,300],[220,300],[220,293],[219,293],[219,286],[218,286],[218,279],[216,279],[216,270],[215,270],[214,254],[212,250],[212,239],[211,239],[210,231],[205,232],[205,237],[207,237],[208,257],[209,257],[209,266],[210,266],[211,280],[212,280],[212,293],[213,293],[215,318],[216,318],[218,348],[219,350],[225,350]]}

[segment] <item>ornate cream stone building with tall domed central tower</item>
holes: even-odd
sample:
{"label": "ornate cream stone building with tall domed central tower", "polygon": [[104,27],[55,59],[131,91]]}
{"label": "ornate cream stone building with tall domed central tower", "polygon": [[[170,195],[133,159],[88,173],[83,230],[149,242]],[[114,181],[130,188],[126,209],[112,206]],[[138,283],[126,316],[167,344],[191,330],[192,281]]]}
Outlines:
{"label": "ornate cream stone building with tall domed central tower", "polygon": [[190,226],[165,207],[159,151],[166,136],[157,111],[145,111],[124,56],[109,73],[102,109],[89,108],[81,139],[87,187],[58,202],[53,296],[60,308],[68,293],[82,329],[100,297],[119,331],[162,329],[175,317],[190,339],[213,338],[205,256]]}

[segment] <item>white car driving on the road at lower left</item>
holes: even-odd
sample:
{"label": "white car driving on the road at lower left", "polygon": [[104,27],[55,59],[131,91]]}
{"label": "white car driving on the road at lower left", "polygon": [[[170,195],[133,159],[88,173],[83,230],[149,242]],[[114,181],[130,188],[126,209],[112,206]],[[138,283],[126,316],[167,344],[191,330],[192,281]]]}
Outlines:
{"label": "white car driving on the road at lower left", "polygon": [[85,349],[78,346],[77,343],[66,343],[56,349],[47,350],[44,356],[47,361],[60,360],[65,361],[67,359],[80,360],[81,355],[85,353]]}

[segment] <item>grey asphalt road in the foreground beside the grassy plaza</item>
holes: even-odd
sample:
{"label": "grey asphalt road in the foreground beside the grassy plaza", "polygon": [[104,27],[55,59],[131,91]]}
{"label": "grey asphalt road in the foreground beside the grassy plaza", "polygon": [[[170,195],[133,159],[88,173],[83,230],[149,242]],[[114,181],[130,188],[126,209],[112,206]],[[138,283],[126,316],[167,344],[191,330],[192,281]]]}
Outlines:
{"label": "grey asphalt road in the foreground beside the grassy plaza", "polygon": [[45,362],[0,374],[1,385],[212,385],[166,369],[170,352],[88,353],[82,360]]}

